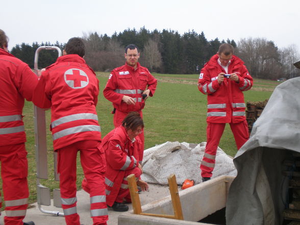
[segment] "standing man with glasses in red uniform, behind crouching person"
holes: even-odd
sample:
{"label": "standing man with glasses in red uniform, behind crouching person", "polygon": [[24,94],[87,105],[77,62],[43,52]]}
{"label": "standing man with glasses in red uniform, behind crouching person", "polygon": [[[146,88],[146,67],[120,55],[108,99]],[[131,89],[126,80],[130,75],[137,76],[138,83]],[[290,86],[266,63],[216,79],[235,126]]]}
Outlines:
{"label": "standing man with glasses in red uniform, behind crouching person", "polygon": [[[104,96],[113,103],[114,126],[120,126],[123,119],[131,111],[138,112],[142,117],[142,109],[145,99],[153,96],[156,90],[157,80],[146,67],[142,67],[138,59],[139,49],[130,44],[125,48],[125,65],[111,71],[108,82],[103,90]],[[144,133],[139,134],[142,141],[140,151],[140,164],[143,159]]]}

